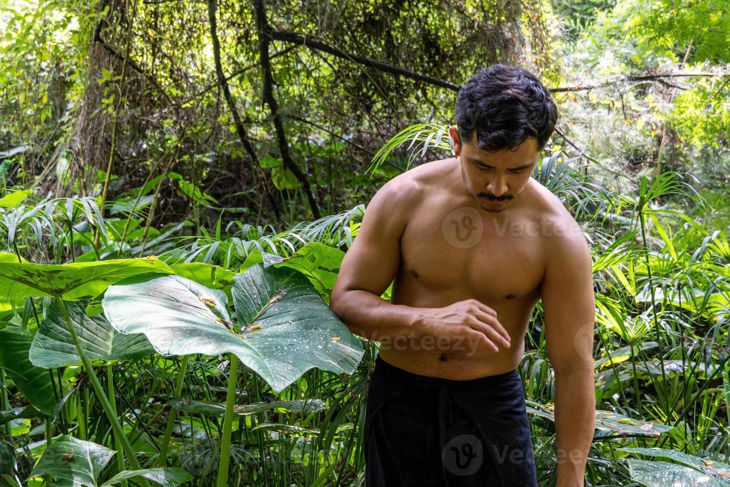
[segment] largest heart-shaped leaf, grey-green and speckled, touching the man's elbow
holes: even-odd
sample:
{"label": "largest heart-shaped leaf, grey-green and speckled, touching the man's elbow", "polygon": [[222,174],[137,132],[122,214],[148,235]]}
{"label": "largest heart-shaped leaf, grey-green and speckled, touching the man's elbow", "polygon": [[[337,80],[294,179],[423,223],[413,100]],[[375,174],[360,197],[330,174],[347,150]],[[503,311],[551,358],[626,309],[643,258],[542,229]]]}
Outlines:
{"label": "largest heart-shaped leaf, grey-green and speckled, touching the man's elbow", "polygon": [[235,353],[276,392],[312,367],[352,373],[362,357],[360,340],[299,272],[255,265],[234,278],[233,295],[239,332],[220,314],[222,291],[180,276],[112,285],[102,306],[112,326],[144,333],[159,353]]}

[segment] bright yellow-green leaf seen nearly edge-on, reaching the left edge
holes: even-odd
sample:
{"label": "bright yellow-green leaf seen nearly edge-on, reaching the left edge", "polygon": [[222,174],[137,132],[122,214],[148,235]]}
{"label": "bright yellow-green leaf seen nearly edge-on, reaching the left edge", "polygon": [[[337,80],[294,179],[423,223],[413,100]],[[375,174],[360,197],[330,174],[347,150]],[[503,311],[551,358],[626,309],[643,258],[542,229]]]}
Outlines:
{"label": "bright yellow-green leaf seen nearly edge-on, reaching the left edge", "polygon": [[62,296],[68,301],[76,301],[99,296],[110,284],[145,273],[173,274],[174,271],[157,258],[120,258],[78,264],[0,262],[0,296],[9,299]]}

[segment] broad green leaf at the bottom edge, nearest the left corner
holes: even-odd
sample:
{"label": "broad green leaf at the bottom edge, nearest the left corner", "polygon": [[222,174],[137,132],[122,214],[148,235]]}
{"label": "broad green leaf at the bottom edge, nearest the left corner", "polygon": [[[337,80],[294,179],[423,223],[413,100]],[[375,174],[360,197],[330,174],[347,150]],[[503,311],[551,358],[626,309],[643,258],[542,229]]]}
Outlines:
{"label": "broad green leaf at the bottom edge, nearest the left corner", "polygon": [[96,478],[116,452],[68,434],[45,449],[31,477],[51,475],[54,487],[96,487]]}

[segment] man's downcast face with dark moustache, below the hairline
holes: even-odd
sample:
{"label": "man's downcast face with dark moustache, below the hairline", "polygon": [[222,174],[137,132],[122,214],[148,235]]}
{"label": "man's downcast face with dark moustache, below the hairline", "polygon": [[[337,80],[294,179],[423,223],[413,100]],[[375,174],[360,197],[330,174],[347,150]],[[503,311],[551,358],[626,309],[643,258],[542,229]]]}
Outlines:
{"label": "man's downcast face with dark moustache, below the hairline", "polygon": [[540,151],[537,139],[525,139],[515,150],[499,150],[488,153],[477,147],[477,132],[472,140],[458,139],[456,127],[449,134],[454,151],[461,164],[466,190],[471,193],[482,210],[501,212],[519,196],[532,175]]}

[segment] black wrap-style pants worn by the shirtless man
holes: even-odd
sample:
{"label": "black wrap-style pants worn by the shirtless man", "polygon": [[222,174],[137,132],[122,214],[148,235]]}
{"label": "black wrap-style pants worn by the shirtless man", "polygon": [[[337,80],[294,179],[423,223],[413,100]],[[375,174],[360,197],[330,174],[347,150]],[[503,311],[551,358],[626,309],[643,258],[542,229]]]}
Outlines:
{"label": "black wrap-style pants worn by the shirtless man", "polygon": [[537,487],[517,370],[475,380],[375,361],[365,412],[366,487]]}

